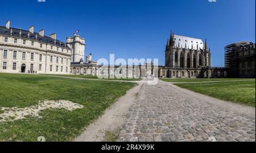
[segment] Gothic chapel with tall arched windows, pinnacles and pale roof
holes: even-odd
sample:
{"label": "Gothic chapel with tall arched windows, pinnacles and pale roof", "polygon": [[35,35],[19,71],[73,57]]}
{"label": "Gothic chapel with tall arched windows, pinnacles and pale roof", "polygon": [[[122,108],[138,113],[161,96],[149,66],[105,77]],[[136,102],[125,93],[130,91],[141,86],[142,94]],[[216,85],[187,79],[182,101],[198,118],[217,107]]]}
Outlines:
{"label": "Gothic chapel with tall arched windows, pinnacles and pale roof", "polygon": [[171,32],[166,44],[166,64],[160,77],[211,77],[210,49],[203,40],[175,35]]}

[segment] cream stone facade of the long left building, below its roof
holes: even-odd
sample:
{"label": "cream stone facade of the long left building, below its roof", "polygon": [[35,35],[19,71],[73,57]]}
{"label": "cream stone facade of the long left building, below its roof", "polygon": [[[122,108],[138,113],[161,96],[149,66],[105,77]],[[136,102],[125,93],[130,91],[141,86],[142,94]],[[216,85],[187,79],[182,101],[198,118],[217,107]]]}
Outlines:
{"label": "cream stone facade of the long left building, below its roof", "polygon": [[[8,42],[5,42],[5,38],[8,38]],[[17,43],[14,43],[15,39],[17,39]],[[23,40],[26,40],[26,44],[23,44]],[[31,45],[31,42],[34,42],[34,46]],[[42,48],[40,44],[42,44]],[[57,50],[57,48],[59,49]],[[7,57],[3,57],[4,50],[7,50]],[[14,51],[17,51],[16,59],[13,57]],[[26,52],[26,59],[24,60],[22,58],[23,52]],[[31,60],[31,53],[34,53],[33,60]],[[39,61],[40,55],[42,55],[42,61]],[[49,58],[51,55],[53,56],[52,63],[50,63]],[[59,63],[56,63],[56,57],[59,57]],[[61,58],[63,58],[63,63],[61,63]],[[37,40],[0,35],[0,72],[20,73],[22,64],[26,64],[25,73],[28,73],[31,64],[34,64],[33,70],[36,73],[69,74],[70,61],[71,50],[67,48],[55,46],[54,44],[44,44],[37,42]],[[3,69],[3,62],[7,62],[6,69]],[[13,69],[13,63],[16,63],[16,70]],[[41,71],[39,71],[40,64],[42,65]],[[52,65],[52,71],[49,71],[49,65]],[[59,67],[58,72],[56,72],[56,66]],[[63,67],[63,72],[61,72],[61,67]],[[66,68],[68,72],[66,72]]]}

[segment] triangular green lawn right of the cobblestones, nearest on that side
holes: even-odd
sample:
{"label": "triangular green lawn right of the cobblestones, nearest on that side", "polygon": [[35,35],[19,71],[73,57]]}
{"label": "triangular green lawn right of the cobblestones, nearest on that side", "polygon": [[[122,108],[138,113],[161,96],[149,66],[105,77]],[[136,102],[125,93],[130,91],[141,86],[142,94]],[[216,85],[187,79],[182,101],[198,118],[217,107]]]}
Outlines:
{"label": "triangular green lawn right of the cobblestones, nearest on that side", "polygon": [[236,102],[255,107],[255,80],[238,82],[209,82],[175,84],[181,88],[202,93],[220,100]]}

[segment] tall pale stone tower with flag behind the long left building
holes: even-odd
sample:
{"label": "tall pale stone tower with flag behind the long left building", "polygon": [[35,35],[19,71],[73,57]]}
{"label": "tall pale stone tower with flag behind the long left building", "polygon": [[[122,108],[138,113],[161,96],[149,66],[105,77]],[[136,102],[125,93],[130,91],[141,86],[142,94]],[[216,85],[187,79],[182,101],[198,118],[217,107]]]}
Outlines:
{"label": "tall pale stone tower with flag behind the long left building", "polygon": [[79,35],[74,34],[73,37],[67,37],[67,46],[72,49],[71,62],[79,63],[82,59],[84,61],[85,55],[85,39]]}

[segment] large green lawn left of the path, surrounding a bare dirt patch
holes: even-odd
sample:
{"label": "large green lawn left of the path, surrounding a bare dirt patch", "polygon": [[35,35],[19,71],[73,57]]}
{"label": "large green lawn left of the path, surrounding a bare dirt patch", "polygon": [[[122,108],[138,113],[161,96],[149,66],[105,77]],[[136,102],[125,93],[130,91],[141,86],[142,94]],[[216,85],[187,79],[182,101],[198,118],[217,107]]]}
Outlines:
{"label": "large green lawn left of the path, surrounding a bare dirt patch", "polygon": [[40,136],[47,141],[72,140],[135,85],[0,73],[0,107],[27,107],[39,100],[68,100],[84,106],[74,111],[47,109],[40,113],[43,118],[0,122],[0,141],[36,141]]}

